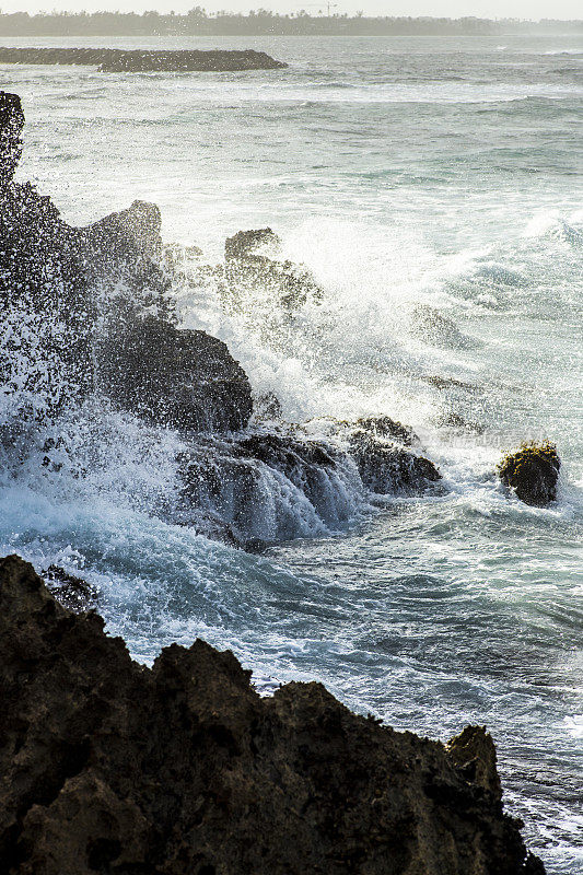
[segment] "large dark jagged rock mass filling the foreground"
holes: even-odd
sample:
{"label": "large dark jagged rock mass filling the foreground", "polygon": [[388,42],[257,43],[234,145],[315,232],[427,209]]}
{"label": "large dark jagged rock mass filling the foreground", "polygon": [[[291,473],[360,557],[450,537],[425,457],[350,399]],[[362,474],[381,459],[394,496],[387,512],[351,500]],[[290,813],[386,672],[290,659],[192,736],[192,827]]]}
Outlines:
{"label": "large dark jagged rock mass filling the foreground", "polygon": [[541,875],[492,740],[351,713],[319,684],[260,698],[232,653],[152,669],[0,561],[5,875]]}

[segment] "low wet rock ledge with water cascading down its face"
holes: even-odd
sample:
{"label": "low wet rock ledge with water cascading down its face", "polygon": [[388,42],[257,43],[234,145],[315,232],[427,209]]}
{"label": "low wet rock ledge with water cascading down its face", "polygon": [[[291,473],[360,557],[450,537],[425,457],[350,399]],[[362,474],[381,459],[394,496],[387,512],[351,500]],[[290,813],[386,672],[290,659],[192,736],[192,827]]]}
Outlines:
{"label": "low wet rock ledge with water cascading down its face", "polygon": [[270,423],[270,432],[197,440],[178,458],[182,486],[172,522],[257,551],[346,527],[371,493],[382,500],[439,488],[441,475],[429,459],[394,440],[338,424],[340,433],[329,440],[284,423]]}

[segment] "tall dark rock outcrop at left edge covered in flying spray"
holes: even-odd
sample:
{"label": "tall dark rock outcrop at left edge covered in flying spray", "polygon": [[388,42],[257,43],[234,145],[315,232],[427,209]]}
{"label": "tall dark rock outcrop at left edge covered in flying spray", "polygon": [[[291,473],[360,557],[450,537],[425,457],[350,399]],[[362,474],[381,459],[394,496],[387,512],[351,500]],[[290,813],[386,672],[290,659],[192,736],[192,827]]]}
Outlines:
{"label": "tall dark rock outcrop at left edge covered in flying spray", "polygon": [[71,228],[13,180],[23,122],[19,97],[0,92],[0,385],[15,413],[51,419],[100,392],[158,424],[243,428],[245,373],[224,343],[175,326],[158,207]]}

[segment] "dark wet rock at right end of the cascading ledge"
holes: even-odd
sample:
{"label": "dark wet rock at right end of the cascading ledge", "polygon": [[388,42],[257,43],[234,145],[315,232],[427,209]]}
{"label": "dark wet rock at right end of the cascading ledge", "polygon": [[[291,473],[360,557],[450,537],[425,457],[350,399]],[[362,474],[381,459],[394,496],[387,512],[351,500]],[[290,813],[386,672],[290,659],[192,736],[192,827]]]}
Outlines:
{"label": "dark wet rock at right end of the cascading ledge", "polygon": [[441,480],[441,474],[428,458],[380,440],[368,431],[353,431],[350,444],[362,481],[371,492],[419,493]]}

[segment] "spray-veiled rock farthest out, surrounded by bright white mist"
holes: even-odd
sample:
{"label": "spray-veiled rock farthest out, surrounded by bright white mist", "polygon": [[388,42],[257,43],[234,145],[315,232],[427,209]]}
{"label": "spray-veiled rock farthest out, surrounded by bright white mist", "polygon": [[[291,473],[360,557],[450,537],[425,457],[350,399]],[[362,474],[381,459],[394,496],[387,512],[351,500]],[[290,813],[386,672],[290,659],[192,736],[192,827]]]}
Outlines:
{"label": "spray-veiled rock farthest out, surrounded by bright white mist", "polygon": [[247,296],[258,292],[287,311],[308,300],[318,301],[322,289],[307,268],[277,256],[281,241],[270,228],[240,231],[225,242],[225,304],[245,310]]}

